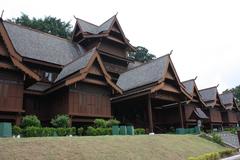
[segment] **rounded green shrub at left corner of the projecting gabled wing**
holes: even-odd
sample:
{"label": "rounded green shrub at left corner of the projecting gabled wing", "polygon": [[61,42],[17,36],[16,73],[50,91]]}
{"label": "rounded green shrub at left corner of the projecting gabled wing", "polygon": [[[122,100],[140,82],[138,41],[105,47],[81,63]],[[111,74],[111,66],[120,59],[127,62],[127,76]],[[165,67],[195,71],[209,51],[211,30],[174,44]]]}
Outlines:
{"label": "rounded green shrub at left corner of the projecting gabled wing", "polygon": [[69,126],[69,116],[57,115],[51,120],[51,124],[56,128],[67,128]]}

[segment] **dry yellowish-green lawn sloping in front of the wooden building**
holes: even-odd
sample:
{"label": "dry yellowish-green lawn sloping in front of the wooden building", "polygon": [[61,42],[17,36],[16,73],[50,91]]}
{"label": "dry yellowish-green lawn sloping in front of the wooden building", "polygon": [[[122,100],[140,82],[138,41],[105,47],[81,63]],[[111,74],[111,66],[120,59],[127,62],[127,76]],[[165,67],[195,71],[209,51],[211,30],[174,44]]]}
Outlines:
{"label": "dry yellowish-green lawn sloping in front of the wooden building", "polygon": [[195,135],[0,138],[1,160],[185,160],[224,149]]}

